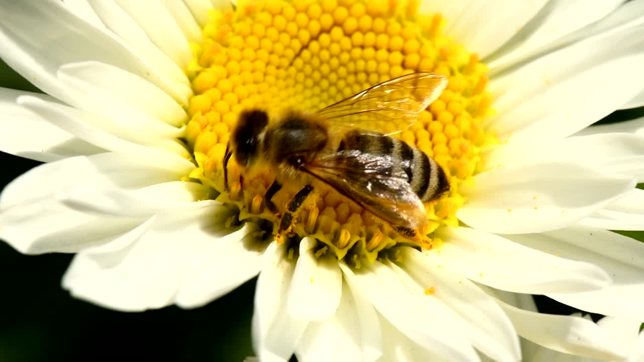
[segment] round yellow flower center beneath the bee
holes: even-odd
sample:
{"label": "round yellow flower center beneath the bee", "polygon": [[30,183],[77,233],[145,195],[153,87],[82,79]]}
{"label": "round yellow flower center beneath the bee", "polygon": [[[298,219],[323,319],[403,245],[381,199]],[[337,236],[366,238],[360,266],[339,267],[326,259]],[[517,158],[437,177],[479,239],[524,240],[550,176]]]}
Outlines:
{"label": "round yellow flower center beneath the bee", "polygon": [[[238,114],[249,108],[316,111],[380,82],[416,71],[449,77],[448,88],[411,128],[397,134],[440,164],[450,176],[450,193],[425,205],[431,232],[457,226],[464,198],[459,186],[471,181],[479,149],[495,142],[481,121],[493,112],[486,91],[487,68],[475,53],[442,33],[440,14],[423,15],[413,1],[256,1],[234,10],[213,11],[203,43],[192,44],[188,68],[194,90],[185,138],[198,169],[191,173],[237,205],[240,219],[278,215],[264,196],[271,169],[247,173],[231,160],[229,190],[223,186],[223,157]],[[257,170],[254,170],[257,171]],[[303,185],[286,184],[272,201],[283,210]],[[334,189],[316,189],[296,214],[294,233],[325,243],[338,258],[366,256],[409,240],[379,222]],[[433,240],[438,243],[439,240]]]}

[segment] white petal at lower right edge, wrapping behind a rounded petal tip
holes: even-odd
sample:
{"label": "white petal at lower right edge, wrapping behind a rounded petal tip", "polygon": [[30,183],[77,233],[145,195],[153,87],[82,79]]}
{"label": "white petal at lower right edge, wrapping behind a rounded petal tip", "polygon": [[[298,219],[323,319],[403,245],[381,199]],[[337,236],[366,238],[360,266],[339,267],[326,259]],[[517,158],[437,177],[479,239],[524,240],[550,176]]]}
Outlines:
{"label": "white petal at lower right edge, wrapping behind a rounded petal tip", "polygon": [[528,247],[592,263],[611,276],[597,291],[548,292],[550,298],[587,312],[644,320],[644,243],[612,231],[574,226],[544,234],[508,235]]}

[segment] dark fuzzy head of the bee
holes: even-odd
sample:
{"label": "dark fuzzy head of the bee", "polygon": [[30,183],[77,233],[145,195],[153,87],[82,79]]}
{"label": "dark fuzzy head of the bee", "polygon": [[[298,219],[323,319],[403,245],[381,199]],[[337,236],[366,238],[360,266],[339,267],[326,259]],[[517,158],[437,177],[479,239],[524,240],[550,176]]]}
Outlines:
{"label": "dark fuzzy head of the bee", "polygon": [[269,124],[269,115],[261,110],[243,111],[232,129],[230,146],[235,160],[242,166],[249,166],[260,153],[260,133]]}

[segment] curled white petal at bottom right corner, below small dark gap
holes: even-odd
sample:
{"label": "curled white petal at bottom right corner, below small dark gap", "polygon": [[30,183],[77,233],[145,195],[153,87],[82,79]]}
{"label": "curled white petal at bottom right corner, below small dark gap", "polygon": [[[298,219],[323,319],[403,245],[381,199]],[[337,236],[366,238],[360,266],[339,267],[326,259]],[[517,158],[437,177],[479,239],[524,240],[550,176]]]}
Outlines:
{"label": "curled white petal at bottom right corner, below small dark gap", "polygon": [[595,323],[580,317],[529,312],[498,301],[526,339],[559,352],[621,359],[620,348]]}

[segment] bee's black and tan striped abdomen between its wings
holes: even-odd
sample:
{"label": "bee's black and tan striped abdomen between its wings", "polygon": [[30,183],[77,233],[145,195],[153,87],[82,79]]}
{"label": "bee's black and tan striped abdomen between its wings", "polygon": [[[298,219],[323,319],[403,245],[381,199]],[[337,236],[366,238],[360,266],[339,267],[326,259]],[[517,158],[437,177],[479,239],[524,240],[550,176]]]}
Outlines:
{"label": "bee's black and tan striped abdomen between its wings", "polygon": [[354,129],[343,137],[338,151],[356,149],[374,155],[388,155],[407,175],[412,191],[422,202],[439,198],[450,189],[445,171],[420,149],[382,133]]}

